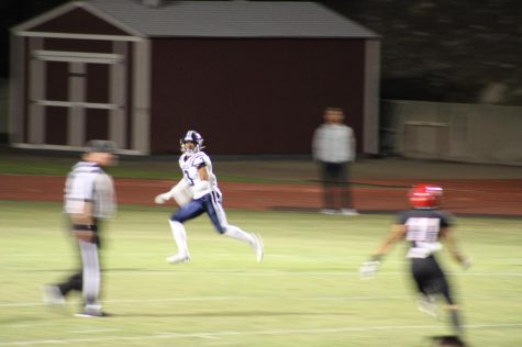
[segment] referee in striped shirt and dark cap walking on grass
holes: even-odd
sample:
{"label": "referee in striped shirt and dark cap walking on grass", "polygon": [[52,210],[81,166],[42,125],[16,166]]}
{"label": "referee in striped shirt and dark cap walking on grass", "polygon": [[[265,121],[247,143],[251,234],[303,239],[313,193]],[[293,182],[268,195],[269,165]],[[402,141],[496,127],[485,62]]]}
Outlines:
{"label": "referee in striped shirt and dark cap walking on grass", "polygon": [[65,304],[71,291],[82,293],[85,309],[76,316],[100,317],[100,231],[101,219],[114,214],[115,194],[112,178],[103,167],[115,161],[115,145],[110,141],[93,139],[69,172],[65,186],[64,208],[70,222],[71,234],[78,244],[81,269],[66,281],[44,287],[44,302]]}

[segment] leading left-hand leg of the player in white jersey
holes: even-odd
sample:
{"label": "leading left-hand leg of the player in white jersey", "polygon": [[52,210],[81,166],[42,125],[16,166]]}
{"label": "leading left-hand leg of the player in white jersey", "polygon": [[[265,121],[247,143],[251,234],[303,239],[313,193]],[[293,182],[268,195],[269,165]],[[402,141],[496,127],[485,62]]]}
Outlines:
{"label": "leading left-hand leg of the player in white jersey", "polygon": [[178,253],[167,257],[167,261],[170,264],[176,262],[189,262],[190,253],[187,243],[187,231],[185,230],[184,222],[195,219],[204,212],[201,201],[192,200],[188,204],[180,208],[168,221],[170,224],[170,231],[173,232],[174,240],[178,247]]}

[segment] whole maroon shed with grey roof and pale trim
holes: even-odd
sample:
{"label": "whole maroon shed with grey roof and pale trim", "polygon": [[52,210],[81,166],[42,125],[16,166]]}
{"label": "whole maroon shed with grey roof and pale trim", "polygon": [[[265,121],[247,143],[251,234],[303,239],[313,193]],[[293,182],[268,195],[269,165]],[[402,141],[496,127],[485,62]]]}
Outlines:
{"label": "whole maroon shed with grey roof and pale trim", "polygon": [[325,107],[378,153],[380,38],[314,2],[91,0],[11,31],[10,142],[124,153],[309,154]]}

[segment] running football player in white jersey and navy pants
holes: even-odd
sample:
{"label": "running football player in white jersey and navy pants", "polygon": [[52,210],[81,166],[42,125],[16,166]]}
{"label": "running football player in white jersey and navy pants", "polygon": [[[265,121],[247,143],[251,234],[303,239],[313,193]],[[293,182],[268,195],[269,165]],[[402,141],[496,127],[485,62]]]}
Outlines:
{"label": "running football player in white jersey and navy pants", "polygon": [[171,264],[190,261],[184,223],[203,213],[207,213],[220,234],[251,245],[257,261],[262,261],[264,247],[260,236],[246,233],[226,221],[226,214],[222,206],[222,194],[212,172],[212,163],[209,156],[201,150],[203,148],[201,135],[198,132],[188,131],[180,139],[180,145],[182,154],[179,157],[179,167],[184,178],[170,191],[155,198],[155,202],[158,204],[175,199],[179,205],[179,210],[169,220],[178,253],[168,257],[167,261]]}

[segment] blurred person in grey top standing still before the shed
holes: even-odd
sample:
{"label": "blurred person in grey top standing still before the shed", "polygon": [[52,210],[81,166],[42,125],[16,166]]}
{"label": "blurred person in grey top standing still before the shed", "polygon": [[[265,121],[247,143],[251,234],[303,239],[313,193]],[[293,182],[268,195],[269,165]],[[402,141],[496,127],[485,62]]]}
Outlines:
{"label": "blurred person in grey top standing still before the shed", "polygon": [[349,188],[349,163],[355,161],[354,131],[340,108],[324,110],[324,123],[313,134],[312,155],[319,163],[324,206],[321,213],[357,215]]}

